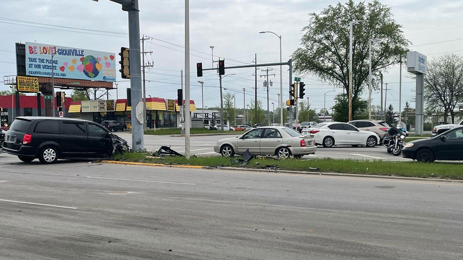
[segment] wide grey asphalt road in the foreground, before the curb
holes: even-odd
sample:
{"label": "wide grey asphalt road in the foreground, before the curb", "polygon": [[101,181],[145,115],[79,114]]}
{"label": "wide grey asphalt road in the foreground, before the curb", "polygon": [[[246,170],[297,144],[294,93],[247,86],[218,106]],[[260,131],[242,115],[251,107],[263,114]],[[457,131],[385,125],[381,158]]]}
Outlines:
{"label": "wide grey asphalt road in the foreground, before the curb", "polygon": [[463,259],[463,184],[0,161],[1,259]]}

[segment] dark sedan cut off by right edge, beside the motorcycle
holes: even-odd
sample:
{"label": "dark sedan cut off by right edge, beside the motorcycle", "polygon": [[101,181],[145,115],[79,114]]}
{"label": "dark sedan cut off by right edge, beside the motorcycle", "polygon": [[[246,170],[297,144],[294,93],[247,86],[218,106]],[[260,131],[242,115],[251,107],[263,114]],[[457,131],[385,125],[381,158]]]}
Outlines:
{"label": "dark sedan cut off by right edge, beside the motorcycle", "polygon": [[418,162],[463,160],[463,126],[430,138],[407,142],[402,148],[402,157]]}

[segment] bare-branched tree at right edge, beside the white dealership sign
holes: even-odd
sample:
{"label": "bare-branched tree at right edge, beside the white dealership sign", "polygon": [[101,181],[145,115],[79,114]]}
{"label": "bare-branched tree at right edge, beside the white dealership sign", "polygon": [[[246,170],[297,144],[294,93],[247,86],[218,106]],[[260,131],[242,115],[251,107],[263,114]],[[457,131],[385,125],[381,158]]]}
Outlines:
{"label": "bare-branched tree at right edge, beside the white dealership sign", "polygon": [[424,88],[428,110],[443,108],[444,124],[449,114],[455,123],[454,108],[463,99],[463,58],[447,54],[429,62]]}

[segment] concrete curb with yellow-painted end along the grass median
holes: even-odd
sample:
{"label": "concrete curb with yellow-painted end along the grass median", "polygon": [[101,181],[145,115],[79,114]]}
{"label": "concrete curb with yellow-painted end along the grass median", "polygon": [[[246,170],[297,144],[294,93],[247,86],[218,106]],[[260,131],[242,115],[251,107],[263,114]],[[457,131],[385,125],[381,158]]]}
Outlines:
{"label": "concrete curb with yellow-painted end along the grass median", "polygon": [[384,176],[384,175],[366,175],[366,174],[364,175],[364,174],[327,173],[327,172],[306,172],[306,171],[289,171],[289,170],[269,170],[269,169],[236,168],[236,167],[210,167],[210,166],[199,166],[199,165],[169,165],[169,164],[158,164],[158,163],[137,163],[137,162],[121,162],[121,161],[101,161],[101,162],[104,162],[104,163],[116,163],[116,164],[130,164],[130,165],[177,167],[177,168],[211,169],[211,170],[222,169],[222,170],[232,170],[232,171],[252,171],[252,172],[267,172],[267,173],[309,174],[309,175],[341,176],[341,177],[362,177],[362,178],[409,180],[409,181],[432,181],[432,182],[463,183],[463,180],[429,179],[429,178],[402,177],[402,176]]}

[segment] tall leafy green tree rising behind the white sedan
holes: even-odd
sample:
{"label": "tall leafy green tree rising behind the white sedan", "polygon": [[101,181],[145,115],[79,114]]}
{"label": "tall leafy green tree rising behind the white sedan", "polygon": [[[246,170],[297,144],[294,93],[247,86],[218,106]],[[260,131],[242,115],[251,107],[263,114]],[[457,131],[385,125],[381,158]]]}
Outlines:
{"label": "tall leafy green tree rising behind the white sedan", "polygon": [[[372,47],[374,81],[379,78],[380,69],[400,62],[410,44],[389,7],[379,0],[367,4],[364,1],[355,4],[349,0],[346,4],[328,5],[318,14],[310,13],[309,25],[303,29],[302,47],[294,52],[293,59],[297,72],[315,74],[349,93],[349,24],[353,20],[365,21],[353,26],[352,115],[356,119],[356,115],[366,108],[360,97],[369,75],[369,40],[381,38]],[[348,94],[345,95],[348,99]],[[337,114],[348,116],[348,104],[348,100],[338,104]],[[341,118],[343,121],[348,119]]]}

